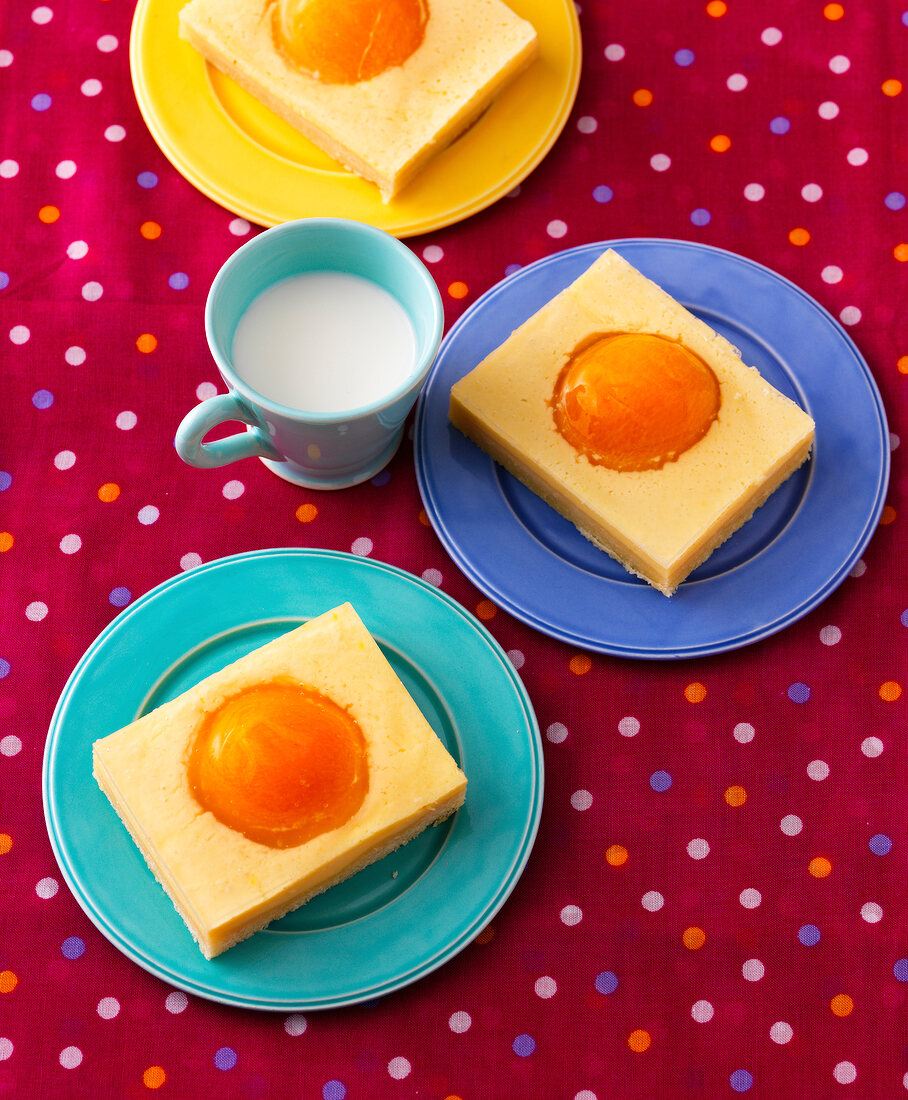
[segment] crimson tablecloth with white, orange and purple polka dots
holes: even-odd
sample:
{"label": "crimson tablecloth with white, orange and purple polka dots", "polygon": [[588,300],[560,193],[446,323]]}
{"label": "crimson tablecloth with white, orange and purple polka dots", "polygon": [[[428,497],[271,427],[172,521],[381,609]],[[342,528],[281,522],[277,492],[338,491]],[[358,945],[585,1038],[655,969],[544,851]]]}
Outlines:
{"label": "crimson tablecloth with white, orange and purple polka dots", "polygon": [[[0,1096],[908,1094],[905,0],[582,0],[551,151],[407,239],[449,328],[545,256],[664,238],[785,276],[866,360],[891,476],[860,559],[785,630],[676,661],[496,606],[435,534],[412,437],[338,493],[180,462],[176,426],[223,389],[208,287],[260,228],[156,146],[132,14],[0,11]],[[274,547],[386,562],[462,605],[516,669],[545,759],[536,844],[491,923],[422,980],[326,1011],[237,1008],[136,966],[72,894],[42,809],[54,707],[92,640],[167,579]],[[506,759],[501,777],[506,799]]]}

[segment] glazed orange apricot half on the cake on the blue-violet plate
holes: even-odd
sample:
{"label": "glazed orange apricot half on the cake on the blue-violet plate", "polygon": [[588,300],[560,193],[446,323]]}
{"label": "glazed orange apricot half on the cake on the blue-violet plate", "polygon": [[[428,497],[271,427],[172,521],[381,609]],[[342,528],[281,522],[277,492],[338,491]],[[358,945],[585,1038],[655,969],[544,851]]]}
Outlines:
{"label": "glazed orange apricot half on the cake on the blue-violet plate", "polygon": [[594,465],[659,470],[719,415],[719,380],[690,349],[646,332],[597,333],[571,352],[551,406],[565,439]]}

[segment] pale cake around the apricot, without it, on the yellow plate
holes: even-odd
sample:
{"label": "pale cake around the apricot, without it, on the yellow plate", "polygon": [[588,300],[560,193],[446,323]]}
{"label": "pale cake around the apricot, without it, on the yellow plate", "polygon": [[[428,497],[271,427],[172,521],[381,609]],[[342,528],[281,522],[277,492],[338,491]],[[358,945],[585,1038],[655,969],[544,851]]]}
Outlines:
{"label": "pale cake around the apricot, without it, on the yellow plate", "polygon": [[502,0],[426,0],[424,37],[403,64],[355,82],[326,82],[278,46],[275,7],[274,0],[189,0],[179,34],[330,157],[376,184],[385,201],[479,118],[538,50],[534,29]]}

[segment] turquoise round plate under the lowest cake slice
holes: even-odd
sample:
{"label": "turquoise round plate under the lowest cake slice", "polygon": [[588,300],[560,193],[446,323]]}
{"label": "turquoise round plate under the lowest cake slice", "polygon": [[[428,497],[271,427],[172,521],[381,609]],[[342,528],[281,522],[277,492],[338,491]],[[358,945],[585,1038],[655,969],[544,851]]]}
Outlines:
{"label": "turquoise round plate under the lowest cake slice", "polygon": [[[346,600],[466,771],[467,802],[449,821],[208,961],[92,779],[91,743]],[[541,798],[533,707],[486,630],[402,570],[319,550],[223,558],[136,600],[73,672],[44,757],[54,853],[108,939],[187,992],[281,1011],[371,1000],[467,946],[519,878]]]}

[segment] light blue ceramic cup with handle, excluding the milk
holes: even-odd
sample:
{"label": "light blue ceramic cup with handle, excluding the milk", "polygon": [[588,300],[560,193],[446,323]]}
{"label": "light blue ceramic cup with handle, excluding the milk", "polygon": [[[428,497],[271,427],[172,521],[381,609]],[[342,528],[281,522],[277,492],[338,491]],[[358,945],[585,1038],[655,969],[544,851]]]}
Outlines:
{"label": "light blue ceramic cup with handle, excluding the milk", "polygon": [[[333,271],[372,279],[404,307],[416,336],[409,377],[383,398],[342,413],[291,408],[256,393],[233,370],[233,333],[252,299],[278,279]],[[259,458],[280,477],[307,488],[368,481],[393,458],[441,341],[445,317],[435,280],[414,253],[372,226],[343,218],[304,218],[248,241],[215,276],[205,310],[208,345],[229,393],[203,402],[174,439],[184,462],[209,469]],[[245,431],[215,442],[220,424]]]}

